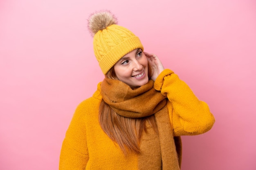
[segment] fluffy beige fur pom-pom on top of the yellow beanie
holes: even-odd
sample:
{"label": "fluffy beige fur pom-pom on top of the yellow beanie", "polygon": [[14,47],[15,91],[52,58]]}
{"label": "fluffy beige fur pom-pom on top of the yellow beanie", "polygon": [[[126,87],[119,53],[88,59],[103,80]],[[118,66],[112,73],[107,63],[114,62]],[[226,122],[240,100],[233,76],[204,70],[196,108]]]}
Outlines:
{"label": "fluffy beige fur pom-pom on top of the yellow beanie", "polygon": [[112,24],[117,24],[117,17],[110,11],[99,11],[92,13],[88,19],[88,29],[92,36],[94,36],[98,31],[106,29]]}

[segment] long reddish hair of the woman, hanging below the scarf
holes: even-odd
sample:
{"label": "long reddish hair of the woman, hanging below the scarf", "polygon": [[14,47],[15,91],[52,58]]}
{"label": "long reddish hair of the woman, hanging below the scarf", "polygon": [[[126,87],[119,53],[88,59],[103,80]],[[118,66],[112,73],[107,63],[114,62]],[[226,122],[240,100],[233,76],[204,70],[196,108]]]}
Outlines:
{"label": "long reddish hair of the woman, hanging below the scarf", "polygon": [[[148,64],[148,78],[151,75],[152,70]],[[108,71],[106,77],[118,80],[113,67]],[[147,133],[146,121],[157,133],[155,116],[126,118],[117,114],[104,100],[101,100],[99,106],[99,124],[108,137],[119,145],[124,154],[127,153],[127,150],[140,153],[139,141],[142,132],[145,131]]]}

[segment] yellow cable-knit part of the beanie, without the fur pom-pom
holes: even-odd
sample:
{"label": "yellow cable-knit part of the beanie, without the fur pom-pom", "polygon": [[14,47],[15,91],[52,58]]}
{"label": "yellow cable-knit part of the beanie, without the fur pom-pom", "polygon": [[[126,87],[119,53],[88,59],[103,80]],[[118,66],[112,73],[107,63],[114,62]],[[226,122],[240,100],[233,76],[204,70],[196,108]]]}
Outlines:
{"label": "yellow cable-knit part of the beanie, without the fur pom-pom", "polygon": [[127,28],[116,24],[112,24],[94,35],[93,48],[103,74],[106,74],[125,54],[137,48],[144,50],[136,35]]}

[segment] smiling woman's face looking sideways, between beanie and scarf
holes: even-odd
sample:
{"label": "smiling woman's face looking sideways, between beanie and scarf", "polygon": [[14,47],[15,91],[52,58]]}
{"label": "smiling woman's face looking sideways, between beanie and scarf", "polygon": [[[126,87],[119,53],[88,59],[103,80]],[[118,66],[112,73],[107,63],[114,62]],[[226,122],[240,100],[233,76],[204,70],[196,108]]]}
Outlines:
{"label": "smiling woman's face looking sideways, between beanie and scarf", "polygon": [[114,65],[117,78],[130,86],[142,86],[148,83],[148,60],[141,49],[135,49],[124,55]]}

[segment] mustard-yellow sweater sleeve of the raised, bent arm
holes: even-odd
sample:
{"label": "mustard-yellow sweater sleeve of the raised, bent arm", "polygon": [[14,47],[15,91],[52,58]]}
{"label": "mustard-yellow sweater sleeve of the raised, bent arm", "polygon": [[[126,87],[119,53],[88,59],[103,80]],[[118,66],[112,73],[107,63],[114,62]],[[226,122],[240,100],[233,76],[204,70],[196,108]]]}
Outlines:
{"label": "mustard-yellow sweater sleeve of the raised, bent arm", "polygon": [[189,86],[173,71],[165,69],[154,88],[168,97],[168,110],[174,136],[198,135],[209,131],[215,119],[206,102],[198,100]]}

